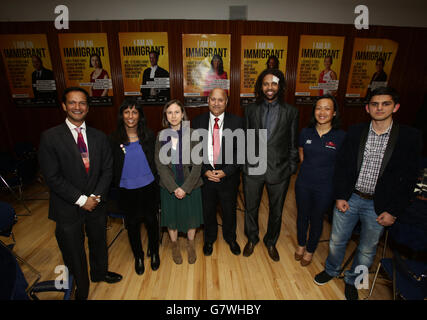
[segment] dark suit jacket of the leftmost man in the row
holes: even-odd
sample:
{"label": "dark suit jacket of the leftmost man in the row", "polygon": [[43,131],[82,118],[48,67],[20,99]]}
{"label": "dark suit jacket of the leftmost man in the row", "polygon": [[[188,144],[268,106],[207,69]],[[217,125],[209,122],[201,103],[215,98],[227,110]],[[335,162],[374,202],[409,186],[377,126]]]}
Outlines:
{"label": "dark suit jacket of the leftmost man in the row", "polygon": [[[50,189],[49,219],[73,223],[84,214],[105,214],[113,159],[107,136],[86,126],[90,168],[86,173],[81,154],[66,123],[43,132],[39,147],[40,169]],[[100,195],[92,212],[75,204],[81,195]]]}

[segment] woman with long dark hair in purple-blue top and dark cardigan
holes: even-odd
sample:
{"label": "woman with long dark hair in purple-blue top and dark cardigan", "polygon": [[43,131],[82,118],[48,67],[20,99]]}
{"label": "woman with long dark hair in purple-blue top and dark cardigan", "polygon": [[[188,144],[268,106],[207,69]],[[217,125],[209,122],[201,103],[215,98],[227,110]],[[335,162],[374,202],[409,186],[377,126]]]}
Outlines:
{"label": "woman with long dark hair in purple-blue top and dark cardigan", "polygon": [[154,164],[154,133],[146,126],[142,107],[134,99],[120,106],[117,130],[110,136],[113,150],[113,187],[119,188],[119,207],[125,212],[129,242],[135,257],[135,271],[144,273],[141,223],[148,233],[151,269],[160,266],[159,189]]}

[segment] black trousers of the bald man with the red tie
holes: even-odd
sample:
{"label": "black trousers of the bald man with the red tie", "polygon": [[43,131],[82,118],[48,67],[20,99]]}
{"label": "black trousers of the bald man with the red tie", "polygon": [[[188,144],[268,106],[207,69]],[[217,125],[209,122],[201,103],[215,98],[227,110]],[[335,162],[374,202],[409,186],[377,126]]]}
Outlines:
{"label": "black trousers of the bald man with the red tie", "polygon": [[217,204],[222,209],[222,235],[227,243],[236,241],[236,207],[240,175],[235,174],[221,182],[203,179],[203,220],[205,243],[214,243],[218,234]]}

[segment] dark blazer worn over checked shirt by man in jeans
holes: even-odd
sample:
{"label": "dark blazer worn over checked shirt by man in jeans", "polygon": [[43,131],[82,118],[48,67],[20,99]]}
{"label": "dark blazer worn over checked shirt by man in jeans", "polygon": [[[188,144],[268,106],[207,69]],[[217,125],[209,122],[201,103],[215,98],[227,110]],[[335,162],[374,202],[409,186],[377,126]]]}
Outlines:
{"label": "dark blazer worn over checked shirt by man in jeans", "polygon": [[[362,167],[369,123],[349,128],[337,155],[335,199],[350,199]],[[418,130],[393,122],[374,193],[375,212],[399,216],[409,204],[418,174],[421,153]]]}

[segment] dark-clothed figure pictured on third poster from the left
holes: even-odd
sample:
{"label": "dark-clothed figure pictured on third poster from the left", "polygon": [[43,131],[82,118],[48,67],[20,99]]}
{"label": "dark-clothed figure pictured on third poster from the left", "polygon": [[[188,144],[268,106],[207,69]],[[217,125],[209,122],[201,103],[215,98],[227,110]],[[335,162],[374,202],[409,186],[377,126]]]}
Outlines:
{"label": "dark-clothed figure pictured on third poster from the left", "polygon": [[[154,81],[155,78],[169,78],[169,72],[159,67],[159,53],[151,51],[149,54],[151,67],[144,70],[142,75],[142,85],[146,85],[149,81]],[[169,99],[170,88],[141,88],[143,98],[163,96]]]}

